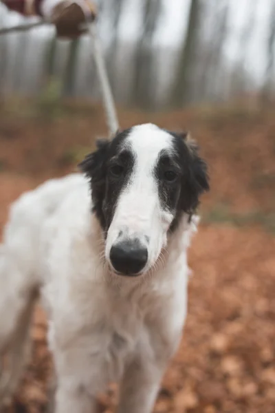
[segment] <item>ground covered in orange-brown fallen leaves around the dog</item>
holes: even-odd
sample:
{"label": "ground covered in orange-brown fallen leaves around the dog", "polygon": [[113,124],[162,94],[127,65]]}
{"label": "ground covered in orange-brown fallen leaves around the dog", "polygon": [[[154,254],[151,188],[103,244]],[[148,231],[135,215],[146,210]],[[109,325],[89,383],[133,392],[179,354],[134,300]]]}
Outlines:
{"label": "ground covered in orange-brown fallen leaves around the dog", "polygon": [[[69,105],[50,118],[33,108],[23,115],[16,105],[0,109],[3,227],[8,205],[20,193],[73,169],[94,137],[104,134],[104,118],[98,107],[85,105]],[[120,118],[122,127],[148,120],[187,127],[210,165],[212,190],[190,248],[188,319],[154,412],[274,413],[274,116],[201,109],[151,116],[121,112]],[[32,362],[10,413],[45,411],[51,370],[46,328],[37,308]],[[100,403],[102,413],[115,411],[115,385]]]}

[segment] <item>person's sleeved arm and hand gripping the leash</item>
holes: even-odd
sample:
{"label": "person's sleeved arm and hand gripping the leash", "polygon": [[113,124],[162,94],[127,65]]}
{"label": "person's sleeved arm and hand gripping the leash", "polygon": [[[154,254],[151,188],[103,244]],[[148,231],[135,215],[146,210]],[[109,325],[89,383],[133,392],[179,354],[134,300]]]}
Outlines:
{"label": "person's sleeved arm and hand gripping the leash", "polygon": [[23,16],[40,16],[54,23],[58,37],[74,39],[85,30],[83,23],[96,18],[95,0],[0,0]]}

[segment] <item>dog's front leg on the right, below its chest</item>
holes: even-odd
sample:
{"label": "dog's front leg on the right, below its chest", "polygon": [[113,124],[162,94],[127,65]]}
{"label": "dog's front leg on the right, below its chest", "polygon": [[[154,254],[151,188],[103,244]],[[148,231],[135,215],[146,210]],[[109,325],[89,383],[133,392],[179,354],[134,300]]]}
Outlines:
{"label": "dog's front leg on the right, below its chest", "polygon": [[118,413],[151,413],[163,371],[146,359],[133,360],[122,379]]}

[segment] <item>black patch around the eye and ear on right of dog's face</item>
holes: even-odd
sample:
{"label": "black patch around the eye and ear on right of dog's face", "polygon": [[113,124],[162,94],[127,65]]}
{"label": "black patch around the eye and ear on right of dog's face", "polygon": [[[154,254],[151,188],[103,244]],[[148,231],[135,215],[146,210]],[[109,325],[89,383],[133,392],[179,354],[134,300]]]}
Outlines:
{"label": "black patch around the eye and ear on right of dog's face", "polygon": [[182,213],[189,217],[195,213],[199,195],[208,191],[209,184],[206,162],[199,157],[197,145],[188,142],[186,135],[168,133],[172,147],[159,153],[155,176],[162,208],[175,216],[170,226],[173,231]]}

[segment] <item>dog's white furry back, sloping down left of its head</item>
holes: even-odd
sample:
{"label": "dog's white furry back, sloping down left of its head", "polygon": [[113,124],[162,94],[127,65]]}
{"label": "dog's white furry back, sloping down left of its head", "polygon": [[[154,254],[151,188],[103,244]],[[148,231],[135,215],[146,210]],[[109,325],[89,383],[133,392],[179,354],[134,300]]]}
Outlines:
{"label": "dog's white furry back, sloping down left of its head", "polygon": [[[23,193],[10,207],[8,224],[3,233],[2,255],[13,255],[21,273],[28,273],[28,277],[33,279],[38,276],[36,261],[41,228],[66,195],[83,182],[83,179],[79,174],[72,174],[65,178],[48,180],[34,191]],[[1,282],[3,276],[0,277]]]}

